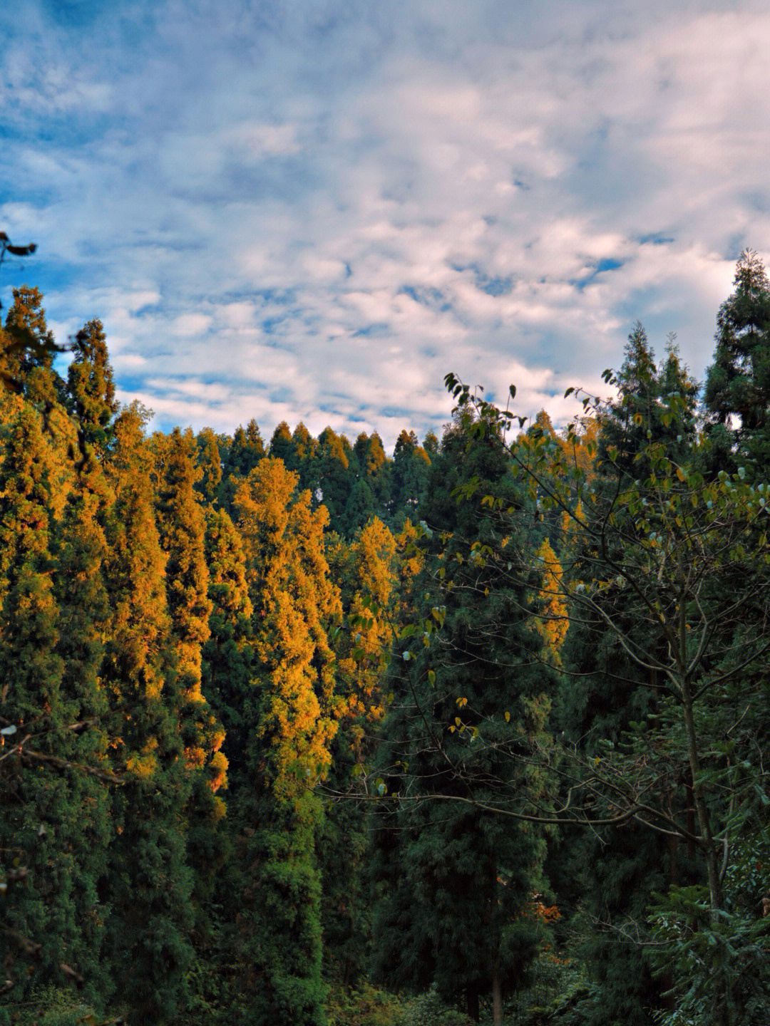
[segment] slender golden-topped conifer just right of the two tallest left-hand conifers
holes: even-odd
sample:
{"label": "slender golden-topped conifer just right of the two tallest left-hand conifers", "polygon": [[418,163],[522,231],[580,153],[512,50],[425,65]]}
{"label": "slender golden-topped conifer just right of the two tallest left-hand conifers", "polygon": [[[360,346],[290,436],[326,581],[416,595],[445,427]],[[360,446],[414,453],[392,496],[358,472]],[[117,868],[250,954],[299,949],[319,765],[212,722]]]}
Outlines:
{"label": "slender golden-topped conifer just right of the two tallest left-hand conifers", "polygon": [[108,534],[113,623],[104,676],[115,768],[124,779],[113,812],[113,959],[131,1022],[160,1026],[184,1007],[192,959],[192,879],[185,844],[190,775],[180,733],[183,697],[174,670],[166,555],[155,521],[146,420],[139,404],[121,411],[108,462],[116,501]]}

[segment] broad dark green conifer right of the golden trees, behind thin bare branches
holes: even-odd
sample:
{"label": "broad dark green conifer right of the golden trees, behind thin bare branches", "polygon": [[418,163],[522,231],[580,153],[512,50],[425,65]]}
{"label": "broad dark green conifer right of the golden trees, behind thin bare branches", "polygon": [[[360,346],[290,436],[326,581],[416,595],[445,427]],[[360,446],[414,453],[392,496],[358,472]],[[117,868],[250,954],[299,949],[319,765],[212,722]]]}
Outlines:
{"label": "broad dark green conifer right of the golden trees, behind thin bare branches", "polygon": [[431,470],[433,541],[412,593],[418,619],[399,634],[382,743],[392,794],[376,828],[387,883],[376,957],[391,985],[435,983],[447,998],[463,995],[473,1019],[491,993],[499,1023],[503,994],[524,984],[537,951],[527,911],[544,885],[545,844],[525,818],[489,811],[514,794],[526,817],[544,800],[547,774],[525,756],[550,747],[554,677],[538,658],[532,537],[518,526],[499,535],[480,491],[459,506],[444,501],[477,482],[506,507],[518,502],[502,436],[474,438],[457,421]]}

